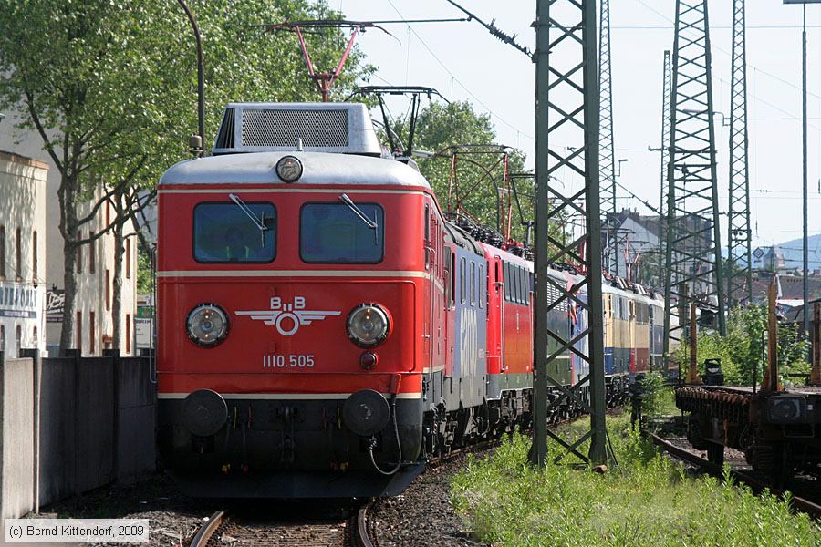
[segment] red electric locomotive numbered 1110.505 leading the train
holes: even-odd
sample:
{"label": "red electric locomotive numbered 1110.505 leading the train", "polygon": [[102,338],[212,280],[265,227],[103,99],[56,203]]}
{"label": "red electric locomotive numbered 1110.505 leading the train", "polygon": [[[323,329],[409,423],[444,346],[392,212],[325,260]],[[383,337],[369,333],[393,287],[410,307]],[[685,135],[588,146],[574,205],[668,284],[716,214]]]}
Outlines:
{"label": "red electric locomotive numbered 1110.505 leading the train", "polygon": [[374,495],[421,469],[445,228],[381,155],[363,105],[233,104],[214,155],[161,178],[160,448],[193,493]]}

